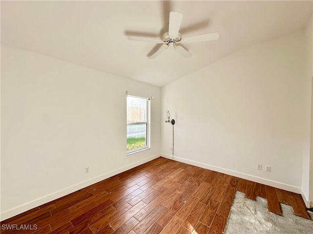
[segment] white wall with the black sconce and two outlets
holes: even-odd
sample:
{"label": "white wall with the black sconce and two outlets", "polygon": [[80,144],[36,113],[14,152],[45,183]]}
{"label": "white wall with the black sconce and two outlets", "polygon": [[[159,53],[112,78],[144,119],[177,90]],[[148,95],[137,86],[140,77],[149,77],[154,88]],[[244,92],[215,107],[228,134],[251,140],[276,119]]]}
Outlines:
{"label": "white wall with the black sconce and two outlets", "polygon": [[[162,117],[170,111],[176,120],[175,158],[300,193],[311,107],[304,42],[302,30],[257,44],[163,87]],[[168,157],[171,145],[163,121]]]}

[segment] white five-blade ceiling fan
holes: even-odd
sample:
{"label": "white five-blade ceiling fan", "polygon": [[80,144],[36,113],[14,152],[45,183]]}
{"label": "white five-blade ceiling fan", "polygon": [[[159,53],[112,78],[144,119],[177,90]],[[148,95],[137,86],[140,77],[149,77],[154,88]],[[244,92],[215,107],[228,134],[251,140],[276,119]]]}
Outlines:
{"label": "white five-blade ceiling fan", "polygon": [[170,12],[170,21],[168,32],[164,33],[161,40],[158,39],[148,39],[148,38],[134,38],[128,37],[129,40],[135,41],[146,41],[146,42],[155,42],[159,44],[164,44],[161,48],[159,48],[149,59],[154,59],[156,56],[161,54],[168,48],[175,49],[182,57],[190,58],[192,54],[190,54],[181,44],[193,43],[193,42],[200,42],[200,41],[209,41],[209,40],[216,40],[220,37],[218,32],[214,33],[206,33],[197,36],[181,38],[179,33],[180,23],[182,20],[182,14],[178,11]]}

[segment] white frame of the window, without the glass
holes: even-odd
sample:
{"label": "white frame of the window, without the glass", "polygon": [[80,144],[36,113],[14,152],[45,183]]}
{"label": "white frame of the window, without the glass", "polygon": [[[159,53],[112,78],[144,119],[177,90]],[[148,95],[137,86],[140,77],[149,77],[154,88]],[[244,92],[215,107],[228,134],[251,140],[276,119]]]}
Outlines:
{"label": "white frame of the window, without the glass", "polygon": [[[132,150],[127,150],[127,155],[131,155],[134,153],[138,153],[144,150],[148,150],[150,149],[150,111],[151,111],[151,100],[150,98],[143,98],[143,97],[138,97],[138,96],[131,96],[131,95],[127,95],[127,97],[133,97],[133,98],[141,98],[141,99],[146,99],[146,121],[145,122],[128,122],[126,119],[126,127],[128,125],[136,125],[136,124],[146,124],[146,145],[139,147],[139,148],[135,148]],[[127,98],[126,98],[126,112],[127,112]],[[126,113],[127,115],[127,113]],[[126,132],[126,146],[127,146],[127,132]]]}

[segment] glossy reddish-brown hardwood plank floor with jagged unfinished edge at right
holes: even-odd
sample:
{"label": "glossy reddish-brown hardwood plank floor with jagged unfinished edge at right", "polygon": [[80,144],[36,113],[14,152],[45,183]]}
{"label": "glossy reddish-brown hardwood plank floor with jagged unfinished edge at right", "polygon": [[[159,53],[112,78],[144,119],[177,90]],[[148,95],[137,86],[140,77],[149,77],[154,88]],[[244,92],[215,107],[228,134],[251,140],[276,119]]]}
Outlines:
{"label": "glossy reddish-brown hardwood plank floor with jagged unfinished edge at right", "polygon": [[310,218],[301,195],[159,157],[4,220],[1,233],[221,234],[236,190]]}

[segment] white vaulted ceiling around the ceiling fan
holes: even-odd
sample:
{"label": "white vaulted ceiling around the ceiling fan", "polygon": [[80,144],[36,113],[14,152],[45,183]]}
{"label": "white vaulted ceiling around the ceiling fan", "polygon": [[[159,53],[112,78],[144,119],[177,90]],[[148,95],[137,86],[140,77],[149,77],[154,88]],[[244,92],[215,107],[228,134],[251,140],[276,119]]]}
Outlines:
{"label": "white vaulted ceiling around the ceiling fan", "polygon": [[[164,86],[235,51],[306,26],[313,1],[1,1],[1,43]],[[186,44],[184,59],[160,44],[170,11],[183,14],[180,33],[220,32],[214,41]]]}

